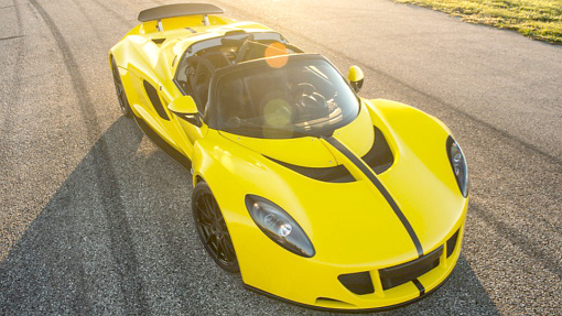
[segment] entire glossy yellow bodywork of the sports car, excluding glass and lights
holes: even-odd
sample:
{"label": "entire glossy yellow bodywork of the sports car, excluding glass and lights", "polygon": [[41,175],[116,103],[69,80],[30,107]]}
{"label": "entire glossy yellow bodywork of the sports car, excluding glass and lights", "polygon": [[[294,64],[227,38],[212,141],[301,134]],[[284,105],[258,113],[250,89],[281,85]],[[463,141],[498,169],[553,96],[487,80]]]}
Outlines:
{"label": "entire glossy yellow bodywork of the sports car, excluding glass and lights", "polygon": [[[109,56],[110,63],[115,59],[117,64],[137,121],[191,161],[194,186],[202,181],[208,184],[230,233],[244,283],[307,306],[343,309],[400,305],[442,284],[460,257],[468,205],[447,157],[448,129],[412,107],[363,98],[357,117],[335,130],[332,141],[314,137],[258,139],[219,131],[206,122],[199,127],[190,123],[166,107],[183,96],[174,77],[186,50],[228,32],[272,32],[258,23],[218,15],[208,15],[209,24],[203,25],[203,18],[162,19],[163,31],[158,30],[156,21],[142,22]],[[160,110],[147,85],[156,91]],[[354,159],[360,161],[374,143],[382,141],[393,157],[383,172]],[[309,168],[343,165],[352,179],[318,181],[279,162]],[[419,244],[375,181],[407,218]],[[264,197],[290,214],[315,254],[296,255],[268,238],[249,215],[248,195]],[[447,253],[447,241],[455,233],[454,250]],[[423,291],[413,281],[383,288],[385,269],[440,249],[439,264],[415,279]],[[355,294],[338,280],[360,272],[370,275],[374,293]]]}

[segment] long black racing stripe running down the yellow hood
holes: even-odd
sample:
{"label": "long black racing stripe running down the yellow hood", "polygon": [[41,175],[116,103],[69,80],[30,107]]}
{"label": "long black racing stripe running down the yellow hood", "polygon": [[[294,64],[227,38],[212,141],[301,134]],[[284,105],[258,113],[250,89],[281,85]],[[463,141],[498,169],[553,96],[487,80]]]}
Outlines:
{"label": "long black racing stripe running down the yellow hood", "polygon": [[404,226],[406,230],[410,235],[410,238],[412,239],[413,244],[415,246],[415,250],[418,250],[418,255],[423,254],[423,248],[421,246],[420,239],[418,238],[418,235],[415,235],[415,231],[413,231],[412,226],[410,225],[410,221],[406,218],[402,210],[400,210],[400,207],[396,204],[395,199],[390,194],[388,193],[387,188],[380,183],[380,181],[377,178],[377,176],[363,163],[353,152],[350,152],[347,148],[345,148],[337,139],[334,137],[323,137],[324,140],[326,140],[331,145],[333,145],[336,150],[338,150],[341,153],[343,153],[348,160],[352,161],[368,178],[369,181],[379,189],[379,192],[382,194],[385,199],[388,201],[390,207],[392,207],[392,210],[396,213],[402,225]]}

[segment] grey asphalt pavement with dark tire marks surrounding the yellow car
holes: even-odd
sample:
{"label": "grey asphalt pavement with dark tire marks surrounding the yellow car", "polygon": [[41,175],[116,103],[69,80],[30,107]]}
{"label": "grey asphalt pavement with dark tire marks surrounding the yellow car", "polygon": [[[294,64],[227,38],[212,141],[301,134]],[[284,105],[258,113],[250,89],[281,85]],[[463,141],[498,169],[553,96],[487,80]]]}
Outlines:
{"label": "grey asphalt pavement with dark tire marks surrounding the yellow car", "polygon": [[[562,47],[388,0],[213,2],[361,66],[364,97],[425,110],[463,145],[458,265],[388,314],[562,314]],[[0,314],[317,313],[218,270],[188,172],[120,116],[107,52],[156,4],[0,0]]]}

